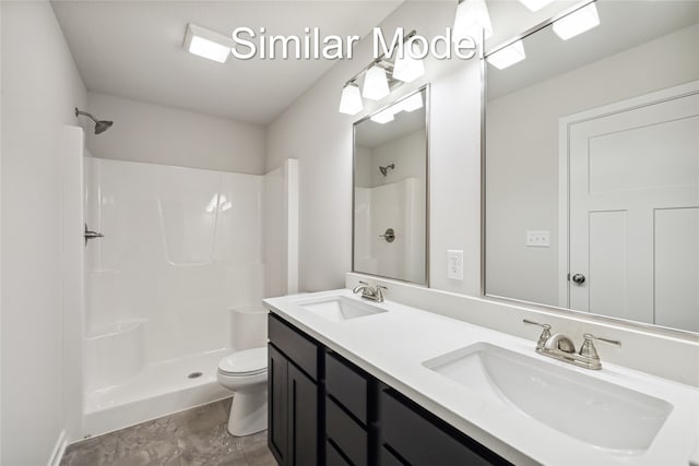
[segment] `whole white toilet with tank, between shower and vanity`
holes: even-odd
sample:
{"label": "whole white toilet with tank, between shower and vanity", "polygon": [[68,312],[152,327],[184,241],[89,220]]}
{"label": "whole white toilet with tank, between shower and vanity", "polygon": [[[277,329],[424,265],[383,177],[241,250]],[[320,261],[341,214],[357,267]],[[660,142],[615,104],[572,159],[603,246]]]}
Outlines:
{"label": "whole white toilet with tank, between shower and vanity", "polygon": [[234,392],[228,432],[250,435],[266,429],[266,310],[234,309],[234,349],[218,363],[218,383]]}

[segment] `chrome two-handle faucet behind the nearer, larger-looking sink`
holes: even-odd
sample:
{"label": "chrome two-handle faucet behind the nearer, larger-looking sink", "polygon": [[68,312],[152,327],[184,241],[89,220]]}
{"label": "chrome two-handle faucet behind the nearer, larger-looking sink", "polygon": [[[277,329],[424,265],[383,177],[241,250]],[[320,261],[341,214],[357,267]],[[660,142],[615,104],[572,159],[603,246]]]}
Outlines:
{"label": "chrome two-handle faucet behind the nearer, larger-looking sink", "polygon": [[582,345],[580,345],[580,350],[576,353],[576,345],[573,344],[572,339],[570,339],[570,337],[564,335],[562,333],[556,333],[552,335],[550,325],[540,324],[538,322],[529,321],[526,319],[524,319],[523,322],[525,324],[538,325],[544,328],[541,336],[538,337],[538,342],[536,343],[536,353],[585,369],[602,369],[600,355],[597,355],[597,349],[594,347],[593,340],[596,339],[614,346],[621,346],[621,342],[619,340],[600,338],[592,334],[585,333],[582,335],[584,340],[582,342]]}

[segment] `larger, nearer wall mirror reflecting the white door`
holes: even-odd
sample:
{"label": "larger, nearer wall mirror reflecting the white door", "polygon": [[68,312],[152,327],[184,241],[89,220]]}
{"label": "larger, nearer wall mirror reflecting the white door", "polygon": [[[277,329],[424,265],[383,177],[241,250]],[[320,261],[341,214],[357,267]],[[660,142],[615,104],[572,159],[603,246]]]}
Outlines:
{"label": "larger, nearer wall mirror reflecting the white door", "polygon": [[485,68],[486,294],[699,332],[699,2],[590,2]]}

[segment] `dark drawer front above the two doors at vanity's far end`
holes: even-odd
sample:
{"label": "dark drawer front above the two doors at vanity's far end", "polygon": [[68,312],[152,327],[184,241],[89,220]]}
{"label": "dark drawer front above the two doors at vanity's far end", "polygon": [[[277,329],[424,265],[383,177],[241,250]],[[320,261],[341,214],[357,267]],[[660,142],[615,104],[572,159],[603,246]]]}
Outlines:
{"label": "dark drawer front above the two doors at vanity's far end", "polygon": [[270,342],[317,381],[318,345],[272,313],[268,322]]}

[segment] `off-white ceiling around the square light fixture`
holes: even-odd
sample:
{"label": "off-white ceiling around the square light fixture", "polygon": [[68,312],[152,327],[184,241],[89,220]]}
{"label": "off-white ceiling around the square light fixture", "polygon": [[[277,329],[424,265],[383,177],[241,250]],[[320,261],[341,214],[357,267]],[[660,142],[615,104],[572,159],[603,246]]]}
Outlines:
{"label": "off-white ceiling around the square light fixture", "polygon": [[247,26],[268,35],[305,27],[364,37],[392,1],[69,1],[51,2],[88,91],[237,121],[266,124],[309,88],[332,60],[216,63],[182,48],[188,23],[229,35]]}

